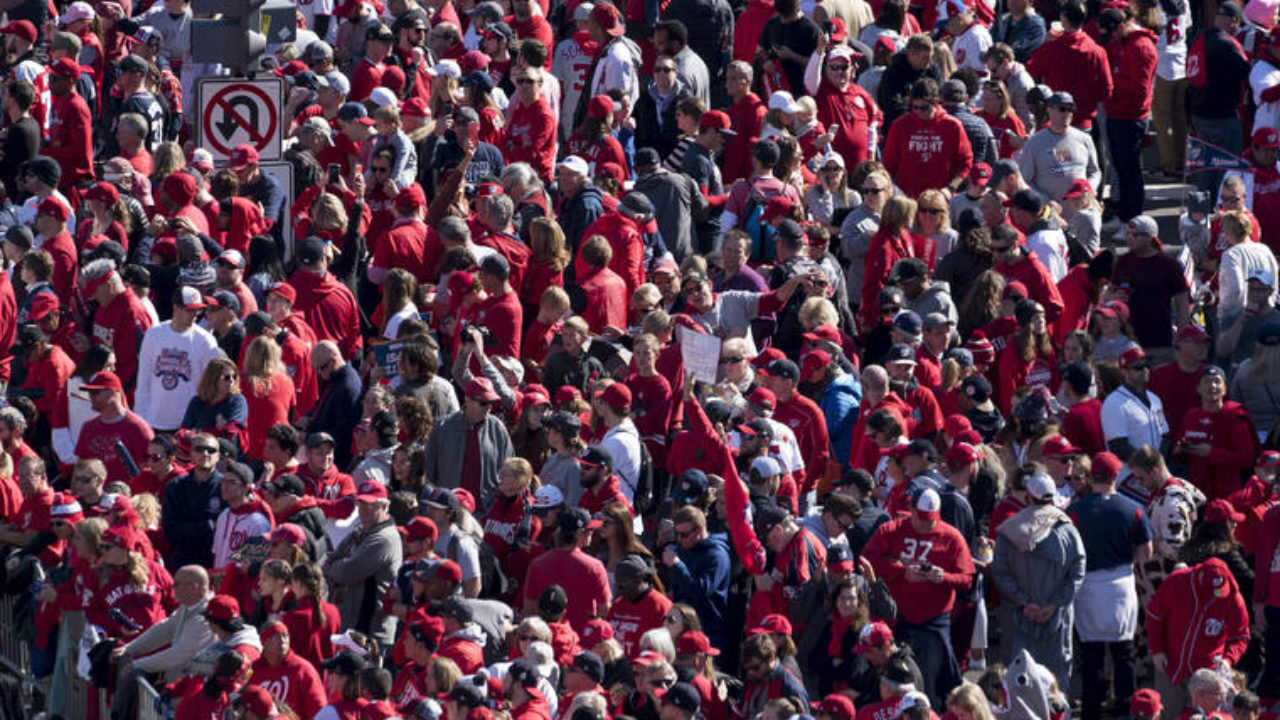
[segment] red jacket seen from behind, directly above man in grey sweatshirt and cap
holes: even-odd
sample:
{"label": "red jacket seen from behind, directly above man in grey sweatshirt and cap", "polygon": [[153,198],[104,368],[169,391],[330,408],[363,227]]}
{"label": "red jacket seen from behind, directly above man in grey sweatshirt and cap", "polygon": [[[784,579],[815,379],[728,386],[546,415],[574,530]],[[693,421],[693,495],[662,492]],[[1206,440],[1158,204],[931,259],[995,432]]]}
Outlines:
{"label": "red jacket seen from behind, directly above man in grey sweatshirt and cap", "polygon": [[1071,94],[1075,117],[1071,124],[1093,127],[1098,102],[1111,97],[1111,63],[1107,51],[1082,31],[1064,32],[1047,40],[1027,60],[1027,72],[1037,82]]}

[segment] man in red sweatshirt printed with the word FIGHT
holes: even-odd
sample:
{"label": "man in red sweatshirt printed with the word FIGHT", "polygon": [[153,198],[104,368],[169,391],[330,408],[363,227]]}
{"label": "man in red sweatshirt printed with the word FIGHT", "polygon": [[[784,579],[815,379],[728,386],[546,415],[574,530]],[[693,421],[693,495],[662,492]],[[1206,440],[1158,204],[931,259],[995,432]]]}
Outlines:
{"label": "man in red sweatshirt printed with the word FIGHT", "polygon": [[969,179],[973,146],[964,126],[938,105],[933,78],[911,86],[911,111],[890,126],[884,138],[884,167],[910,197],[925,190],[955,193]]}

